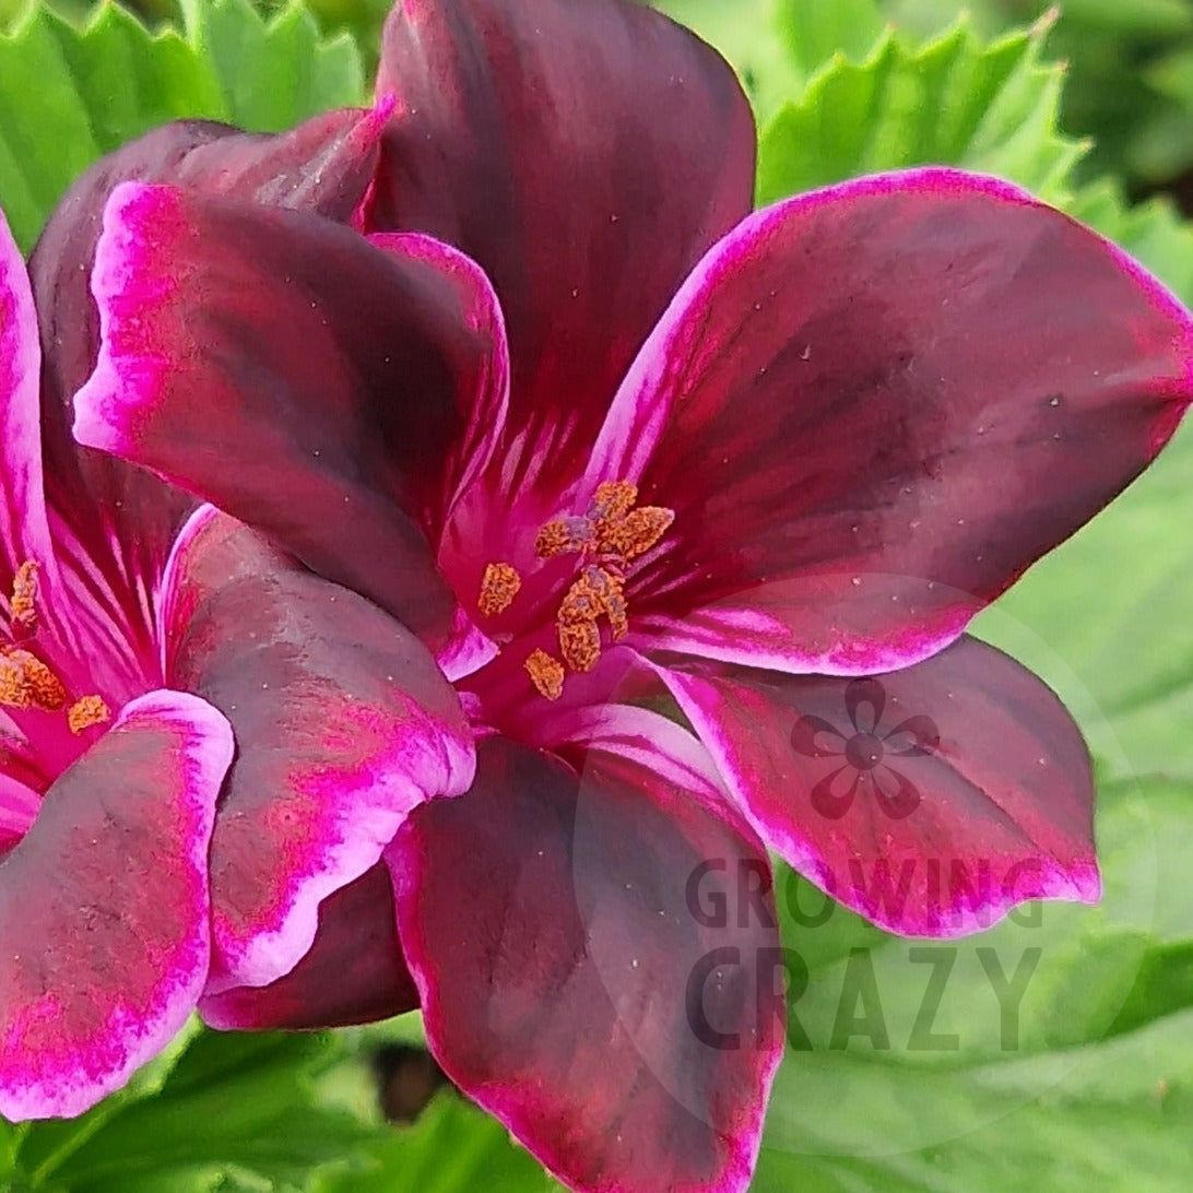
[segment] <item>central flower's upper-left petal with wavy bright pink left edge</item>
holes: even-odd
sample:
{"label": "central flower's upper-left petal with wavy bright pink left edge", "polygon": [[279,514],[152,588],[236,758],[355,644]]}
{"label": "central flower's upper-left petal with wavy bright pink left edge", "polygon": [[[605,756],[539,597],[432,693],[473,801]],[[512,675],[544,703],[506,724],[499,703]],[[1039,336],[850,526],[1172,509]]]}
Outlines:
{"label": "central flower's upper-left petal with wavy bright pink left edge", "polygon": [[503,407],[480,271],[426,237],[375,246],[324,220],[126,184],[94,291],[103,344],[75,400],[79,440],[215,501],[441,647],[457,610],[412,513],[429,526],[450,497],[445,460],[465,478],[464,445],[487,441],[477,412]]}

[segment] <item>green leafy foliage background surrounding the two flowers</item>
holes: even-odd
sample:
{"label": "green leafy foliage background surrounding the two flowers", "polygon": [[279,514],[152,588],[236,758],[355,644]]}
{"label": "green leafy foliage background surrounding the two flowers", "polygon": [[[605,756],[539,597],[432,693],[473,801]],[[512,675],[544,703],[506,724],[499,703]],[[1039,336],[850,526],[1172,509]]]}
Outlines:
{"label": "green leafy foliage background surrounding the two flowers", "polygon": [[[1058,19],[1041,19],[1034,0],[969,0],[968,17],[953,0],[662,6],[746,81],[761,129],[760,200],[876,169],[962,165],[1093,223],[1193,302],[1193,230],[1177,206],[1193,165],[1185,0],[1069,0]],[[0,204],[26,246],[79,171],[165,119],[279,129],[358,101],[385,2],[140,8],[148,27],[116,4],[0,0]],[[1161,193],[1132,203],[1151,192]],[[812,981],[793,1007],[755,1188],[1188,1187],[1191,457],[1186,429],[979,622],[1061,692],[1092,742],[1104,904],[1032,909],[950,946],[937,1043],[923,1046],[939,957],[826,908],[784,873],[785,939]],[[993,996],[995,964],[1006,975],[1032,966],[1015,1022]],[[418,1043],[418,1022],[335,1037],[194,1028],[76,1123],[0,1121],[0,1183],[79,1193],[552,1187],[500,1126],[447,1090],[410,1127],[382,1123],[370,1058],[395,1039]]]}

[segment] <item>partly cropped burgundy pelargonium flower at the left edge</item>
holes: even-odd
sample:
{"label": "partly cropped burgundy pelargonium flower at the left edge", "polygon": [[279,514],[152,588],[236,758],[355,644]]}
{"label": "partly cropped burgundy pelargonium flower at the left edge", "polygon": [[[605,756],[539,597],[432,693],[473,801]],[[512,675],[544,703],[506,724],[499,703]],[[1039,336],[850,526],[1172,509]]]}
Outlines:
{"label": "partly cropped burgundy pelargonium flower at the left edge", "polygon": [[[350,218],[383,115],[270,138],[161,129],[79,181],[29,273],[0,218],[8,1119],[82,1112],[204,989],[286,972],[324,895],[376,861],[419,792],[471,781],[458,704],[408,631],[68,429],[98,341],[86,264],[112,185],[168,177]],[[384,678],[398,668],[404,693]]]}

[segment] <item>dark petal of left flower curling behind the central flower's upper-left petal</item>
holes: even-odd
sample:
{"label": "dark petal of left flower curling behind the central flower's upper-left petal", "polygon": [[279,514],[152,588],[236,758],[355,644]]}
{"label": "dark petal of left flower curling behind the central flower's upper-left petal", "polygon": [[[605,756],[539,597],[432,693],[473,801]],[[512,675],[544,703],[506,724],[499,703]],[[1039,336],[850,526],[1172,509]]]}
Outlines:
{"label": "dark petal of left flower curling behind the central flower's upper-left petal", "polygon": [[[134,623],[129,629],[137,636],[135,648],[146,659],[153,654],[152,610],[141,613],[140,594],[147,587],[152,595],[153,577],[194,501],[140,469],[81,450],[70,434],[70,400],[99,347],[88,280],[104,206],[119,183],[137,179],[347,221],[367,190],[388,111],[329,112],[278,136],[206,122],[165,125],[88,169],[58,204],[33,251],[30,272],[45,357],[42,421],[51,515],[64,524],[64,537],[79,540],[91,570],[98,569],[79,586],[92,591],[110,618]],[[140,586],[140,577],[152,579]]]}

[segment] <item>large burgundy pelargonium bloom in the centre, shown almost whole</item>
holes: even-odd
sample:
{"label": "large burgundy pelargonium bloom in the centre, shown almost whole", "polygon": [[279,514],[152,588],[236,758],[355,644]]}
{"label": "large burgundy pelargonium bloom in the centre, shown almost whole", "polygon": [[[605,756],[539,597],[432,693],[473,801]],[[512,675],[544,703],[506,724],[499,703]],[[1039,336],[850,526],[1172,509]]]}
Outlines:
{"label": "large burgundy pelargonium bloom in the centre, shown almost whole", "polygon": [[[385,851],[396,935],[370,871],[289,977],[202,1009],[356,1015],[387,963],[341,972],[354,931],[573,1187],[743,1188],[780,1045],[767,847],[905,933],[1098,896],[1080,733],[964,630],[1173,433],[1193,323],[989,178],[752,215],[731,72],[623,0],[407,0],[379,87],[365,235],[132,185],[97,255],[80,440],[416,629],[478,752]],[[919,805],[826,817],[792,730],[845,735],[876,674],[939,734],[901,759]]]}

